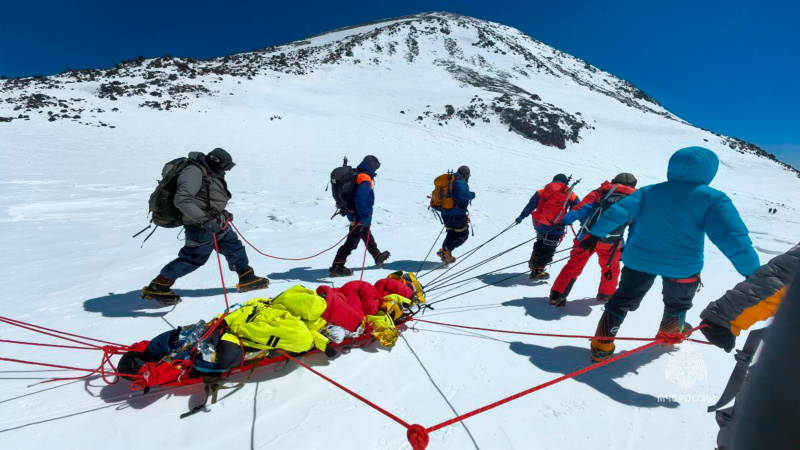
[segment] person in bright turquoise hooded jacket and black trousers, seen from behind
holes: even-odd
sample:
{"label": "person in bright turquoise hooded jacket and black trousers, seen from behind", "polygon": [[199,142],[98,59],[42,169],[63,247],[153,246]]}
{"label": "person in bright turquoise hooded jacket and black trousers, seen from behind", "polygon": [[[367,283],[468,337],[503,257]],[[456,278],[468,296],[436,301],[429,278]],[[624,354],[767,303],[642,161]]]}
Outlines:
{"label": "person in bright turquoise hooded jacket and black trousers, seen from behind", "polygon": [[[659,332],[683,332],[686,311],[700,286],[705,236],[748,277],[760,266],[758,255],[733,202],[710,186],[719,158],[703,147],[687,147],[669,160],[667,181],[645,186],[609,208],[581,247],[591,249],[614,229],[631,223],[622,254],[619,288],[606,305],[592,359],[614,352],[614,336],[629,311],[635,311],[655,278],[663,278],[664,315]],[[607,338],[607,339],[604,339]]]}

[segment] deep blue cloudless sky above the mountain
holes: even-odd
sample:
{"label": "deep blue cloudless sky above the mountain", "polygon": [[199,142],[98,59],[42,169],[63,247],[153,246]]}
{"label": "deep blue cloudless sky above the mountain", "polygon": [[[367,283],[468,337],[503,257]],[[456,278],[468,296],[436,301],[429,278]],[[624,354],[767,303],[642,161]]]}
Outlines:
{"label": "deep blue cloudless sky above the mountain", "polygon": [[800,2],[0,0],[0,74],[205,58],[422,11],[500,22],[800,167]]}

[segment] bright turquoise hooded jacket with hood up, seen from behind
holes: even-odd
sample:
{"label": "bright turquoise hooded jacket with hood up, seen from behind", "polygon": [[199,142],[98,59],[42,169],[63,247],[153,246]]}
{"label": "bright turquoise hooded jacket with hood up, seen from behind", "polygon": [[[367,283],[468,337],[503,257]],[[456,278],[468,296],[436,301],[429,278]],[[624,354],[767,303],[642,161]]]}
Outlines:
{"label": "bright turquoise hooded jacket with hood up, seen from behind", "polygon": [[667,278],[689,278],[703,270],[705,235],[745,277],[759,267],[747,227],[733,202],[708,186],[719,159],[703,147],[678,150],[669,159],[667,180],[645,186],[609,208],[592,227],[604,237],[633,221],[622,262],[631,269]]}

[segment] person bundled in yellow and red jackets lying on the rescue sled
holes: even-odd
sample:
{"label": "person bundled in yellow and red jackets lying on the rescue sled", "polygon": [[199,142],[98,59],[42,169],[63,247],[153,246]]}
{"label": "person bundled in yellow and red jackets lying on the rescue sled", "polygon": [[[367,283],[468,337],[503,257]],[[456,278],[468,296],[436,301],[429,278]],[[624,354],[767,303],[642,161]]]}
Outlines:
{"label": "person bundled in yellow and red jackets lying on the rescue sled", "polygon": [[[394,273],[375,285],[351,281],[316,292],[296,285],[275,298],[254,298],[211,323],[199,321],[131,346],[120,359],[120,374],[139,387],[179,382],[185,376],[222,374],[262,358],[275,349],[302,354],[314,349],[335,356],[332,348],[370,333],[386,347],[397,341],[397,323],[424,297],[413,276]],[[208,336],[206,336],[209,334]],[[198,343],[199,342],[199,343]],[[333,344],[333,345],[331,345]]]}

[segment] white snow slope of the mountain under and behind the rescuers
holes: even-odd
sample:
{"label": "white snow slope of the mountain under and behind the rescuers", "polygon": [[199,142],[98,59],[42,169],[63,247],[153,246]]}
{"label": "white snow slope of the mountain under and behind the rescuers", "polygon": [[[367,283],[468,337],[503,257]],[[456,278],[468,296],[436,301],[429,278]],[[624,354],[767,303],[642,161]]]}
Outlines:
{"label": "white snow slope of the mountain under and behind the rescuers", "polygon": [[[0,116],[14,117],[0,123],[0,227],[7,250],[2,315],[112,341],[149,339],[224,307],[211,262],[177,283],[184,301],[174,309],[139,300],[141,286],[181,242],[177,230],[159,230],[144,248],[130,239],[146,225],[147,198],[164,162],[217,146],[237,162],[228,183],[239,228],[262,249],[284,256],[316,253],[344,235],[344,221],[329,220],[328,174],[345,155],[352,162],[378,156],[374,232],[392,259],[385,269],[367,269],[371,281],[417,269],[441,229],[426,209],[432,179],[462,164],[471,166],[477,193],[475,236],[457,254],[505,228],[555,173],[582,178],[581,195],[620,171],[634,173],[643,186],[663,181],[670,154],[688,145],[720,156],[712,186],[731,196],[763,262],[800,240],[797,173],[754,146],[682,121],[623,80],[519,31],[462,16],[422,14],[226,58],[128,61],[109,70],[0,81],[0,87]],[[778,213],[768,214],[773,207]],[[473,259],[530,237],[526,222]],[[343,281],[326,278],[331,254],[302,263],[249,255],[272,279],[264,295],[295,283]],[[526,245],[481,270],[528,256]],[[350,266],[360,258],[356,252]],[[600,274],[592,264],[563,311],[546,305],[549,285],[516,278],[443,302],[426,318],[589,334],[601,314],[593,300]],[[235,274],[224,275],[233,285]],[[694,324],[702,307],[740,279],[710,242],[703,276],[705,287],[689,313]],[[653,288],[621,335],[655,333],[659,292]],[[235,303],[254,296],[230,297]],[[423,425],[588,361],[582,340],[414,328],[391,351],[373,345],[332,361],[307,361]],[[0,327],[0,338],[43,341],[8,326]],[[90,352],[0,349],[11,358],[99,363]],[[707,378],[684,390],[665,373],[692,351],[702,355]],[[706,346],[655,349],[437,431],[431,448],[712,448],[717,428],[705,409],[733,362]],[[142,396],[126,383],[106,386],[100,379],[28,387],[73,373],[2,363],[0,442],[65,449],[408,448],[402,428],[357,400],[293,364],[275,369],[259,370],[209,412],[179,420],[202,401],[200,388]],[[705,398],[657,401],[679,395]]]}

